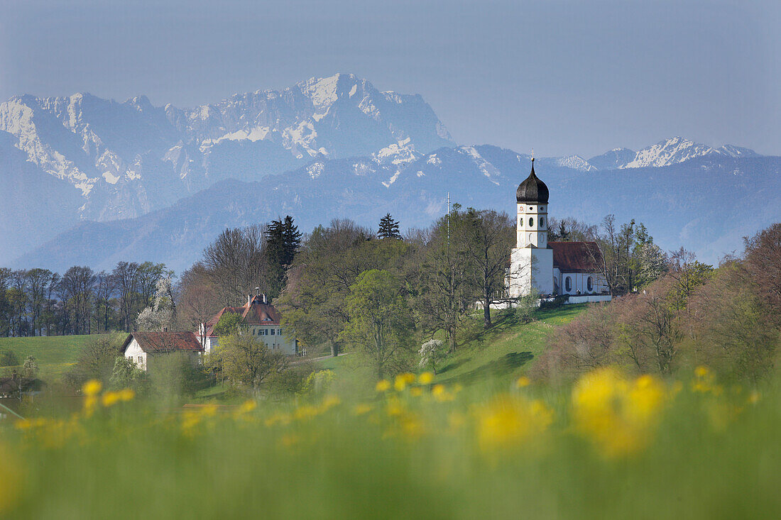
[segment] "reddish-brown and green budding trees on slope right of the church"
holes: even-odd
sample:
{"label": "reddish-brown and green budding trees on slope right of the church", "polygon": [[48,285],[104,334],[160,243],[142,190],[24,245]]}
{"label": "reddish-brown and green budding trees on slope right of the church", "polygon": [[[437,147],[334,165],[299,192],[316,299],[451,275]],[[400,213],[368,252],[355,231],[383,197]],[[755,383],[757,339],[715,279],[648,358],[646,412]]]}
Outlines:
{"label": "reddish-brown and green budding trees on slope right of the church", "polygon": [[[636,271],[636,275],[640,272]],[[726,379],[773,369],[781,337],[781,224],[745,239],[718,267],[684,249],[643,290],[596,305],[551,335],[536,365],[572,379],[598,366],[669,375],[707,365]]]}

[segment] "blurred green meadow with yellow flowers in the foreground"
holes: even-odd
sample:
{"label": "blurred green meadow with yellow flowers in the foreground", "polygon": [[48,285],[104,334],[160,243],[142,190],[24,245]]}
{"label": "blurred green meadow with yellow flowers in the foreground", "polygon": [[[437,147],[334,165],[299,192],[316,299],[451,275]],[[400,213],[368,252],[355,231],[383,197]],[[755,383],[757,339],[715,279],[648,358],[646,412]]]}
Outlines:
{"label": "blurred green meadow with yellow flowers in the foreground", "polygon": [[0,518],[779,518],[781,395],[612,369],[551,390],[399,376],[325,394],[0,429]]}

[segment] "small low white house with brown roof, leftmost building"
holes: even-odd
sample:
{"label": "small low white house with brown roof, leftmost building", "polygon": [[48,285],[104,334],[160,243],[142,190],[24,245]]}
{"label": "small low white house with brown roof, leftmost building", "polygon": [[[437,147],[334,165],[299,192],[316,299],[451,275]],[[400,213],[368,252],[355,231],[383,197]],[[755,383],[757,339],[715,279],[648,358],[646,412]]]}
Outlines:
{"label": "small low white house with brown roof, leftmost building", "polygon": [[122,352],[138,368],[148,370],[155,358],[176,352],[186,354],[196,363],[203,354],[203,347],[191,332],[136,332],[128,334]]}

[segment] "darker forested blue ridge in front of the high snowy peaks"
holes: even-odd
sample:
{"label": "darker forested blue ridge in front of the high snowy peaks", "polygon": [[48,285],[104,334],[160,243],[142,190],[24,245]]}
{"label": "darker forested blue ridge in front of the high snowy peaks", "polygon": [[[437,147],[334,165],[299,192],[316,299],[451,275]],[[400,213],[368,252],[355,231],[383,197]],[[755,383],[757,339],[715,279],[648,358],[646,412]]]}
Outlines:
{"label": "darker forested blue ridge in front of the high snowy peaks", "polygon": [[[529,166],[528,156],[487,145],[440,148],[401,167],[373,158],[319,159],[261,182],[226,180],[137,219],[81,223],[16,263],[64,269],[88,258],[108,269],[122,259],[152,259],[180,271],[226,226],[290,214],[302,230],[333,218],[376,227],[386,212],[402,227],[427,226],[446,211],[448,193],[463,206],[512,215],[515,187]],[[708,262],[739,251],[741,237],[781,219],[778,157],[709,155],[631,176],[542,161],[536,169],[551,191],[551,215],[592,223],[608,213],[621,222],[637,219],[662,248],[685,245]]]}

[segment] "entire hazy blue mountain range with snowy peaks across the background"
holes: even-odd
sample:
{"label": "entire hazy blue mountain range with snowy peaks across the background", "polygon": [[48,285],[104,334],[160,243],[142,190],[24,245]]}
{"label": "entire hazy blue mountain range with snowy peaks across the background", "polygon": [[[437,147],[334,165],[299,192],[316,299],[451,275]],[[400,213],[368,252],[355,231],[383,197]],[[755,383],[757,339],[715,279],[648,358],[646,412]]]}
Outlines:
{"label": "entire hazy blue mountain range with snowy peaks across the background", "polygon": [[[529,166],[515,151],[458,146],[421,96],[350,74],[194,109],[25,95],[0,104],[0,265],[150,259],[180,271],[226,226],[286,214],[302,230],[340,217],[376,226],[386,212],[427,226],[448,192],[512,214]],[[781,158],[733,145],[672,137],[536,169],[552,215],[635,218],[662,247],[711,262],[781,218]]]}

